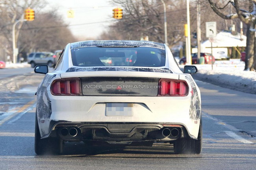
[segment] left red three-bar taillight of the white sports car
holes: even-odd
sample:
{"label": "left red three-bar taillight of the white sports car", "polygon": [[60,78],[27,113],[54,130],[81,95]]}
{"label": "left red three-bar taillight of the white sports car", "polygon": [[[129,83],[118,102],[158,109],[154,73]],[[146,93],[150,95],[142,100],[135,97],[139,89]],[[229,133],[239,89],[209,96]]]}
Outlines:
{"label": "left red three-bar taillight of the white sports car", "polygon": [[79,78],[57,79],[51,85],[52,95],[82,95]]}

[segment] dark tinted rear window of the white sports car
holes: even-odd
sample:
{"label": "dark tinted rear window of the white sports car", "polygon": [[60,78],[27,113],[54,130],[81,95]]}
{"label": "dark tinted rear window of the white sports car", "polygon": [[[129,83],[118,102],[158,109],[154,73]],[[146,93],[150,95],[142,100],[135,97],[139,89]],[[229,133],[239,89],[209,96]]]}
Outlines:
{"label": "dark tinted rear window of the white sports car", "polygon": [[165,66],[165,50],[150,47],[83,47],[71,56],[74,66]]}

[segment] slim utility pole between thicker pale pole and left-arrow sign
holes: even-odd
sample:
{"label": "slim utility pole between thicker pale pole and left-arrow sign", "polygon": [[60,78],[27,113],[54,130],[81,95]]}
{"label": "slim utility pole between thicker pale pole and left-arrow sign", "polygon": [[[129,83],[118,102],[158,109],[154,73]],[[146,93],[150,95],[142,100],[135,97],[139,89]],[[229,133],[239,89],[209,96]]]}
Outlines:
{"label": "slim utility pole between thicker pale pole and left-arrow sign", "polygon": [[201,11],[200,0],[197,0],[197,64],[201,57]]}

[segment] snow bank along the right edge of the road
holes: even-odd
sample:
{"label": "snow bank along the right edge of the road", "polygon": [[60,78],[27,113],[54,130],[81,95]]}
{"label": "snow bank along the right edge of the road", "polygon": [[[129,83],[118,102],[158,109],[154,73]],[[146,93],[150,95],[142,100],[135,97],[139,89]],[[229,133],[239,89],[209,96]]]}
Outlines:
{"label": "snow bank along the right edge of the road", "polygon": [[245,63],[239,59],[216,61],[211,70],[211,64],[197,64],[198,73],[195,79],[210,82],[218,86],[256,94],[256,72],[243,71]]}

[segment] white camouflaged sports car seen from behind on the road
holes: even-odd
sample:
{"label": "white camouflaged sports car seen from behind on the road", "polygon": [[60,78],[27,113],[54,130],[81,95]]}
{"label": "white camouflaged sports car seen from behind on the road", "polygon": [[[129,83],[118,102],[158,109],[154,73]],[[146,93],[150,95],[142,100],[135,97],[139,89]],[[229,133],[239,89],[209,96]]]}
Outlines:
{"label": "white camouflaged sports car seen from behind on the road", "polygon": [[170,143],[174,153],[202,150],[201,97],[165,44],[102,40],[67,44],[37,89],[35,153],[64,142]]}

